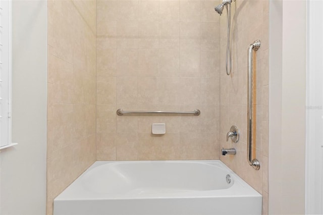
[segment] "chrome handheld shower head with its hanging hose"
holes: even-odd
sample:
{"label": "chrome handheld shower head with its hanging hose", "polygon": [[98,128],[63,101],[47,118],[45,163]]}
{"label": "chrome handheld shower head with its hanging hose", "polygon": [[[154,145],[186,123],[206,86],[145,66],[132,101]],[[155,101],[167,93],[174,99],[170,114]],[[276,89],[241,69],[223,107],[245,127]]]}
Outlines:
{"label": "chrome handheld shower head with its hanging hose", "polygon": [[[233,1],[235,2],[236,0],[233,0]],[[220,16],[221,16],[224,6],[226,6],[227,14],[228,14],[228,16],[227,16],[228,40],[227,40],[227,55],[226,55],[226,73],[227,73],[227,75],[231,74],[231,50],[230,50],[231,3],[232,3],[232,0],[223,0],[222,4],[220,4],[214,8],[214,10],[216,10],[216,12],[218,14],[220,14]]]}

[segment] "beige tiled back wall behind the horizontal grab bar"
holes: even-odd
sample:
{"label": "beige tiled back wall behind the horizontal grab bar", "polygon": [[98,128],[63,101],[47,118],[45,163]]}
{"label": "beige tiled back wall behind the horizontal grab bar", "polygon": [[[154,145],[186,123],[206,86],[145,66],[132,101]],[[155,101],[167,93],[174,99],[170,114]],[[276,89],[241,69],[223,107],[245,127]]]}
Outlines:
{"label": "beige tiled back wall behind the horizontal grab bar", "polygon": [[[97,1],[98,160],[219,159],[218,1]],[[196,116],[117,116],[200,109]],[[152,123],[166,123],[152,135]]]}

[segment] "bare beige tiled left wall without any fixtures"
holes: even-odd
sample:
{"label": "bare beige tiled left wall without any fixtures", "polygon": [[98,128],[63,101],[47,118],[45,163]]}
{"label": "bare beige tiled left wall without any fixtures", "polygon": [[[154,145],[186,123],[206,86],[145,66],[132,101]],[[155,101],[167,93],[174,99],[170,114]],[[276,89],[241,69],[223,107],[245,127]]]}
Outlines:
{"label": "bare beige tiled left wall without any fixtures", "polygon": [[48,1],[47,214],[96,160],[95,34],[95,1]]}

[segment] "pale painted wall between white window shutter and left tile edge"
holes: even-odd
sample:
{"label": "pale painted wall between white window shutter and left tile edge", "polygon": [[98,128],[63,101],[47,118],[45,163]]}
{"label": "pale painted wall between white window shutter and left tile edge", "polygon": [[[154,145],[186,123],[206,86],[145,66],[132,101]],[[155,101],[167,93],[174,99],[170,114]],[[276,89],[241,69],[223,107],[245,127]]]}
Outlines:
{"label": "pale painted wall between white window shutter and left tile edge", "polygon": [[1,214],[45,214],[47,2],[13,1],[13,142],[1,151]]}

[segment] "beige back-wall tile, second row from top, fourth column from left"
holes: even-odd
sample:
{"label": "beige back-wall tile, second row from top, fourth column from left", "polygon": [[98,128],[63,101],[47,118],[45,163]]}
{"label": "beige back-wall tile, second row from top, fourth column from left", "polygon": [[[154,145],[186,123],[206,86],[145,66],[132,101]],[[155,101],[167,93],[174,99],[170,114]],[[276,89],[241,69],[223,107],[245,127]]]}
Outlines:
{"label": "beige back-wall tile, second row from top, fourth column from left", "polygon": [[179,22],[159,22],[159,48],[180,48]]}

